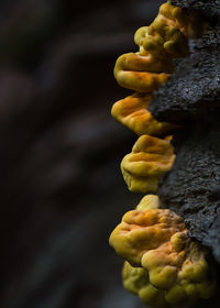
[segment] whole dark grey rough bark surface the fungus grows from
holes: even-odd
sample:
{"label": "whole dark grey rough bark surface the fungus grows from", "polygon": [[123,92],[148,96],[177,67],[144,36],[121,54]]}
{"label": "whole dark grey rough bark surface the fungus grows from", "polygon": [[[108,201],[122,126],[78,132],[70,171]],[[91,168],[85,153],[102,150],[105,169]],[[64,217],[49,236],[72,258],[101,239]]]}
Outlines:
{"label": "whole dark grey rough bark surface the fungus grows from", "polygon": [[176,162],[158,194],[220,262],[220,1],[172,3],[199,9],[208,28],[151,105],[157,119],[183,124],[174,134]]}

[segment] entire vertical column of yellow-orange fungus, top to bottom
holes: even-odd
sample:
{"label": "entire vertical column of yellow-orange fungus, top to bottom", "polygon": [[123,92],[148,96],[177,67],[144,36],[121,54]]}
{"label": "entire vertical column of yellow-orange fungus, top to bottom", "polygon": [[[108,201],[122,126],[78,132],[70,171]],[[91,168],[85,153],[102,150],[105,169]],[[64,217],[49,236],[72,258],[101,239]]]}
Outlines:
{"label": "entire vertical column of yellow-orange fungus, top to bottom", "polygon": [[[111,111],[140,136],[121,163],[132,191],[156,193],[160,179],[173,166],[170,133],[175,127],[155,120],[147,107],[153,91],[174,72],[173,59],[186,56],[188,40],[200,36],[204,30],[198,13],[167,2],[150,26],[136,31],[139,52],[124,54],[116,63],[118,84],[135,91],[116,102]],[[124,287],[146,305],[179,307],[215,293],[216,279],[206,249],[188,237],[180,217],[160,209],[155,195],[146,195],[135,210],[127,212],[109,241],[125,260]]]}

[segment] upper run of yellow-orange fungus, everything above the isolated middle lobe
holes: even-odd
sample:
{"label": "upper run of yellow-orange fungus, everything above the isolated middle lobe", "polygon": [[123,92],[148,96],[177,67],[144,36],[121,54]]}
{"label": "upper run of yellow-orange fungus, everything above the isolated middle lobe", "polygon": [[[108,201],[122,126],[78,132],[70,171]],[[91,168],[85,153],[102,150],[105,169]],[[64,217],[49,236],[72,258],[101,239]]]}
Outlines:
{"label": "upper run of yellow-orange fungus, everything above the isolated middle lobe", "polygon": [[173,58],[188,54],[188,38],[199,36],[204,22],[196,12],[185,13],[168,2],[160,8],[150,26],[140,28],[134,42],[136,53],[121,55],[114,77],[121,87],[135,94],[113,105],[112,116],[136,134],[161,135],[173,125],[160,123],[147,110],[153,91],[166,82],[174,72]]}

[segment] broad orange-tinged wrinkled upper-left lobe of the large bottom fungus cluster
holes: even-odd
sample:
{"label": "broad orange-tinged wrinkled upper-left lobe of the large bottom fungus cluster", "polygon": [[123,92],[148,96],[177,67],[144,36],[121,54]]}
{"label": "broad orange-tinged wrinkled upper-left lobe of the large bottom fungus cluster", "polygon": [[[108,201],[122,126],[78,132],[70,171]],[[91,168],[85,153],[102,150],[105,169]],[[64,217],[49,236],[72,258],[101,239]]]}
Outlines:
{"label": "broad orange-tinged wrinkled upper-left lobe of the large bottom fungus cluster", "polygon": [[[169,242],[172,235],[179,231],[185,231],[185,224],[169,210],[131,210],[113,230],[109,242],[119,255],[131,264],[141,266],[145,253]],[[148,260],[144,258],[144,262]]]}

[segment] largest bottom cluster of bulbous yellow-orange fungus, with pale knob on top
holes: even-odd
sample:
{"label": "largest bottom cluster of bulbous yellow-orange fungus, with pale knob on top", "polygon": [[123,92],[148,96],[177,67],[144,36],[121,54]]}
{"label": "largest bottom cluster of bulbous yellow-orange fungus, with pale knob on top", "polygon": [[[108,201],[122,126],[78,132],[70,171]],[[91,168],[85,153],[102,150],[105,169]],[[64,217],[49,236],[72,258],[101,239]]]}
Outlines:
{"label": "largest bottom cluster of bulbous yellow-orange fungus, with pale knob on top", "polygon": [[216,280],[206,250],[188,237],[180,217],[158,206],[157,196],[145,196],[110,235],[110,245],[125,260],[124,287],[153,307],[211,297]]}

